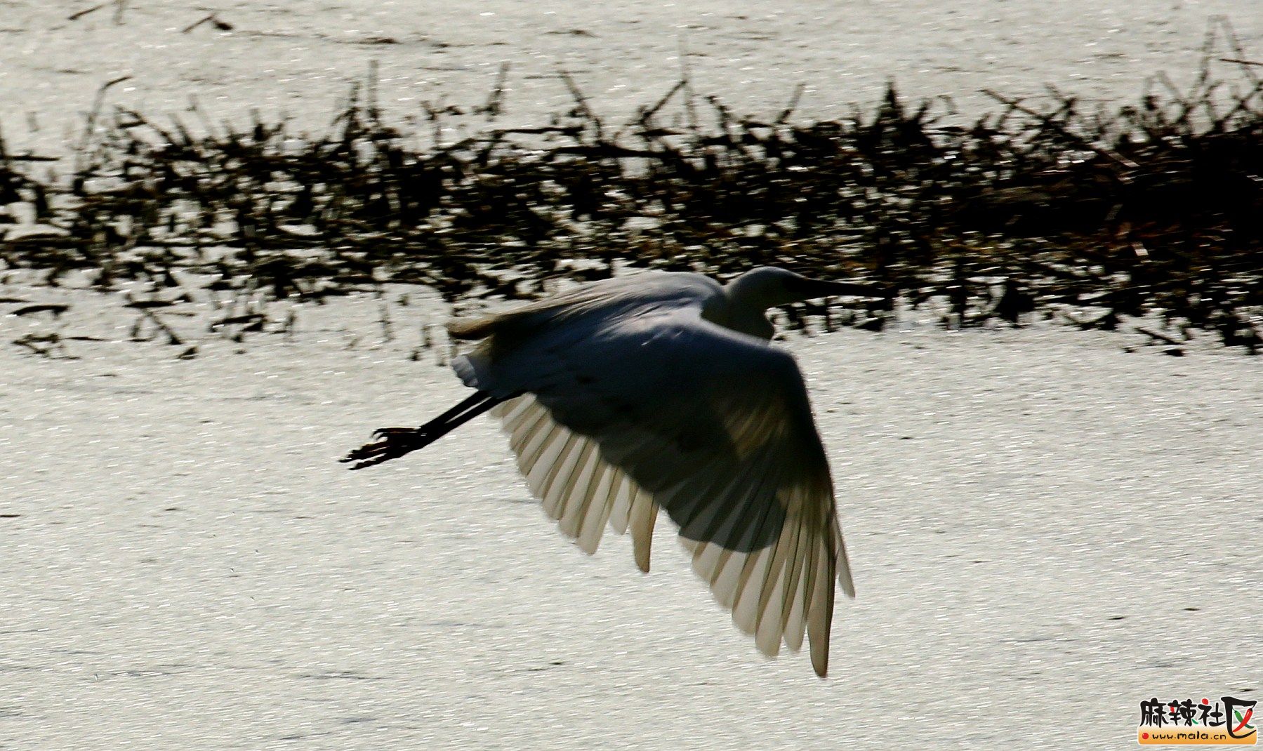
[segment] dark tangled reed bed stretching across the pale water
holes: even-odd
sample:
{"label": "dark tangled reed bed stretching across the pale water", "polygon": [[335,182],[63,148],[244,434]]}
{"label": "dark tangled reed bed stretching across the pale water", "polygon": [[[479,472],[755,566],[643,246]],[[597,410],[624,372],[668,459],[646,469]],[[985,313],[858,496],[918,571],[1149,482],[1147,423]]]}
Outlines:
{"label": "dark tangled reed bed stretching across the pale water", "polygon": [[[10,232],[0,263],[47,284],[86,269],[102,292],[196,279],[320,300],[390,281],[452,303],[625,265],[777,264],[883,284],[945,326],[1147,317],[1154,341],[1211,331],[1253,353],[1263,67],[1244,57],[1207,58],[1186,91],[1159,76],[1110,110],[1055,88],[1039,103],[991,93],[995,112],[967,126],[950,102],[909,106],[893,85],[873,111],[801,122],[794,101],[740,116],[687,80],[614,126],[562,76],[568,111],[498,129],[501,76],[484,105],[427,109],[432,133],[414,133],[388,122],[370,74],[309,135],[258,115],[237,127],[196,109],[193,122],[106,112],[107,85],[73,159],[49,167],[0,143],[0,204],[56,228]],[[485,127],[443,139],[470,115]],[[787,313],[875,329],[888,309]]]}

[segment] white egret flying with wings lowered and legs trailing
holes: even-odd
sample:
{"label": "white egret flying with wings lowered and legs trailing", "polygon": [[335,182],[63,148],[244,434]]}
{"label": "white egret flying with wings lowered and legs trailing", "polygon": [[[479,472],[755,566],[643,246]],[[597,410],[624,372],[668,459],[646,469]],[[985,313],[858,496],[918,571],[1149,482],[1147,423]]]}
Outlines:
{"label": "white egret flying with wings lowered and legs trailing", "polygon": [[754,269],[720,285],[648,271],[448,323],[480,343],[452,366],[476,393],[421,428],[383,428],[357,470],[490,410],[548,516],[586,553],[609,523],[649,571],[659,509],[733,621],[774,656],[811,640],[825,675],[835,579],[855,596],[823,446],[768,308],[864,285]]}

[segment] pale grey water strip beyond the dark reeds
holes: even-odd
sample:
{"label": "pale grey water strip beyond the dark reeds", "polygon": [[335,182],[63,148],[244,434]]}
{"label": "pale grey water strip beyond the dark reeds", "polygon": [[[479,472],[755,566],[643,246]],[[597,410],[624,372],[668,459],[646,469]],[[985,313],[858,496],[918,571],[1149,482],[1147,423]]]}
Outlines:
{"label": "pale grey water strip beyond the dark reeds", "polygon": [[[995,109],[979,93],[1038,95],[1045,83],[1089,101],[1134,101],[1147,77],[1186,81],[1211,16],[1225,16],[1247,50],[1263,48],[1254,0],[859,0],[839,3],[630,3],[558,0],[476,4],[222,1],[208,6],[133,0],[124,24],[83,3],[8,0],[0,8],[0,125],[45,149],[81,125],[96,88],[133,80],[111,102],[179,112],[196,95],[212,116],[250,109],[323,127],[351,81],[380,64],[389,114],[421,101],[485,101],[512,67],[506,122],[539,125],[570,105],[571,72],[614,120],[678,80],[681,53],[700,93],[738,112],[779,112],[807,85],[805,117],[870,105],[894,80],[909,97],[951,96],[967,114]],[[203,10],[205,9],[205,10]],[[181,30],[216,10],[235,25]],[[374,43],[390,39],[393,44]],[[1220,44],[1220,52],[1228,53]],[[40,131],[29,133],[27,112]],[[186,117],[192,119],[187,114]]]}

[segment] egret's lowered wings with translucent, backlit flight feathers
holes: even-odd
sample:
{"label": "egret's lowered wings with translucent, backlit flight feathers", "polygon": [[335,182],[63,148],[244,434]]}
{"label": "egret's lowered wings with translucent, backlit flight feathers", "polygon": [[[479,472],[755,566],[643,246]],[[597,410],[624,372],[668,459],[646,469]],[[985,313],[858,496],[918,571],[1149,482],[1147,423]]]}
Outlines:
{"label": "egret's lowered wings with translucent, backlit flight feathers", "polygon": [[825,674],[835,578],[854,587],[792,356],[671,312],[549,332],[458,370],[528,393],[498,413],[532,491],[585,550],[609,520],[647,571],[666,510],[759,649],[798,650],[806,632]]}

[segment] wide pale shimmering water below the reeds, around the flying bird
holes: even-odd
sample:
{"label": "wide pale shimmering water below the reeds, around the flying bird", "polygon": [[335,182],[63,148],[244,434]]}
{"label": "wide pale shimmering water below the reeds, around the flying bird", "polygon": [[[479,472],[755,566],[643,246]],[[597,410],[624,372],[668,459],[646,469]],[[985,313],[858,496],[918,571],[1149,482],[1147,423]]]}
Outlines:
{"label": "wide pale shimmering water below the reeds, around the flying bird", "polygon": [[562,539],[485,419],[337,464],[460,399],[407,357],[431,303],[393,342],[373,300],[304,305],[240,353],[189,305],[178,361],[120,341],[116,298],[23,294],[111,341],[0,348],[0,746],[1100,748],[1142,699],[1263,678],[1263,371],[1209,341],[792,337],[859,591],[818,680],[731,627],[666,520],[648,576]]}

